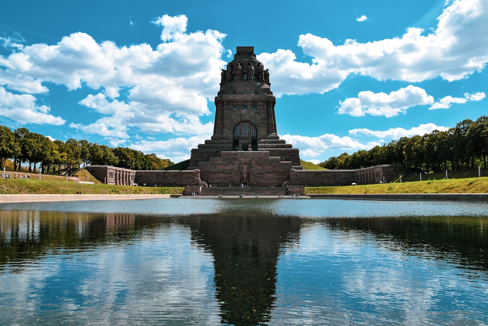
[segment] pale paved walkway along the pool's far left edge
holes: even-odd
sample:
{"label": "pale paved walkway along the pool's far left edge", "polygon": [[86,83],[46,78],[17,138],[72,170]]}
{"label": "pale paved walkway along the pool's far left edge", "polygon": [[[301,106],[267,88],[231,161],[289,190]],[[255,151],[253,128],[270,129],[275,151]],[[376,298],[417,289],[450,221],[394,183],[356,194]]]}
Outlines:
{"label": "pale paved walkway along the pool's far left edge", "polygon": [[0,195],[0,203],[74,200],[135,200],[170,198],[179,195]]}

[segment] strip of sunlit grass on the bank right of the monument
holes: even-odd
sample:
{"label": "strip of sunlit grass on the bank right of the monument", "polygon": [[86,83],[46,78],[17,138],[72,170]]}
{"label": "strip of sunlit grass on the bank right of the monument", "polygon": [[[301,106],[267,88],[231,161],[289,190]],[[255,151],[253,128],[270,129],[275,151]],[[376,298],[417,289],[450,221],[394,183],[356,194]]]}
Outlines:
{"label": "strip of sunlit grass on the bank right of the monument", "polygon": [[307,194],[479,194],[488,193],[488,177],[344,187],[305,187],[305,192]]}

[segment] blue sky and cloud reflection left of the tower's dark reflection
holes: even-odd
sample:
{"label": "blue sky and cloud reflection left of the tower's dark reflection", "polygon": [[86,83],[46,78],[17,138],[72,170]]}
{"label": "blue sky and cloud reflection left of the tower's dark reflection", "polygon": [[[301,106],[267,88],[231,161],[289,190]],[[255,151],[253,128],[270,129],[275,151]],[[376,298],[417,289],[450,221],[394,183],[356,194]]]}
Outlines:
{"label": "blue sky and cloud reflection left of the tower's dark reflection", "polygon": [[[152,239],[143,239],[147,237]],[[98,325],[167,321],[168,316],[175,322],[220,323],[213,258],[192,244],[188,228],[172,224],[129,242],[73,252],[64,259],[44,257],[24,265],[20,274],[2,274],[2,281],[18,286],[0,285],[0,292],[16,298],[10,309],[22,311],[22,318],[27,318],[26,309],[31,311],[32,322],[49,308],[69,321]]]}

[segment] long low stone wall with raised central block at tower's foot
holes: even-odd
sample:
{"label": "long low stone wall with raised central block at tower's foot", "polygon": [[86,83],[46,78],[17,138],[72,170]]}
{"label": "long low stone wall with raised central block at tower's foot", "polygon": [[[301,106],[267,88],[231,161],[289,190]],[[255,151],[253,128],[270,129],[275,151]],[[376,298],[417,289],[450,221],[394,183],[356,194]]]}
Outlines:
{"label": "long low stone wall with raised central block at tower's foot", "polygon": [[[402,173],[398,165],[379,165],[359,170],[297,170],[292,163],[280,157],[270,157],[269,152],[221,152],[220,157],[211,157],[200,162],[200,170],[129,170],[106,165],[87,166],[85,169],[100,182],[113,185],[201,187],[204,184],[267,187],[281,186],[287,181],[289,187],[348,186],[353,183],[373,184],[393,182]],[[245,177],[244,177],[245,176]]]}

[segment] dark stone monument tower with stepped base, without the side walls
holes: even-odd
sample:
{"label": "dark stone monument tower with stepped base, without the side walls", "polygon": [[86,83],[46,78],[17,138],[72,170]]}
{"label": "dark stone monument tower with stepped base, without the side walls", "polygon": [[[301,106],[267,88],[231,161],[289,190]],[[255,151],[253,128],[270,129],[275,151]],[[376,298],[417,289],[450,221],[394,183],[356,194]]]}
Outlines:
{"label": "dark stone monument tower with stepped base, without the side walls", "polygon": [[292,168],[302,169],[298,149],[277,135],[270,86],[254,47],[238,46],[222,69],[213,136],[191,151],[188,170],[200,170],[207,184],[268,187],[282,186]]}

